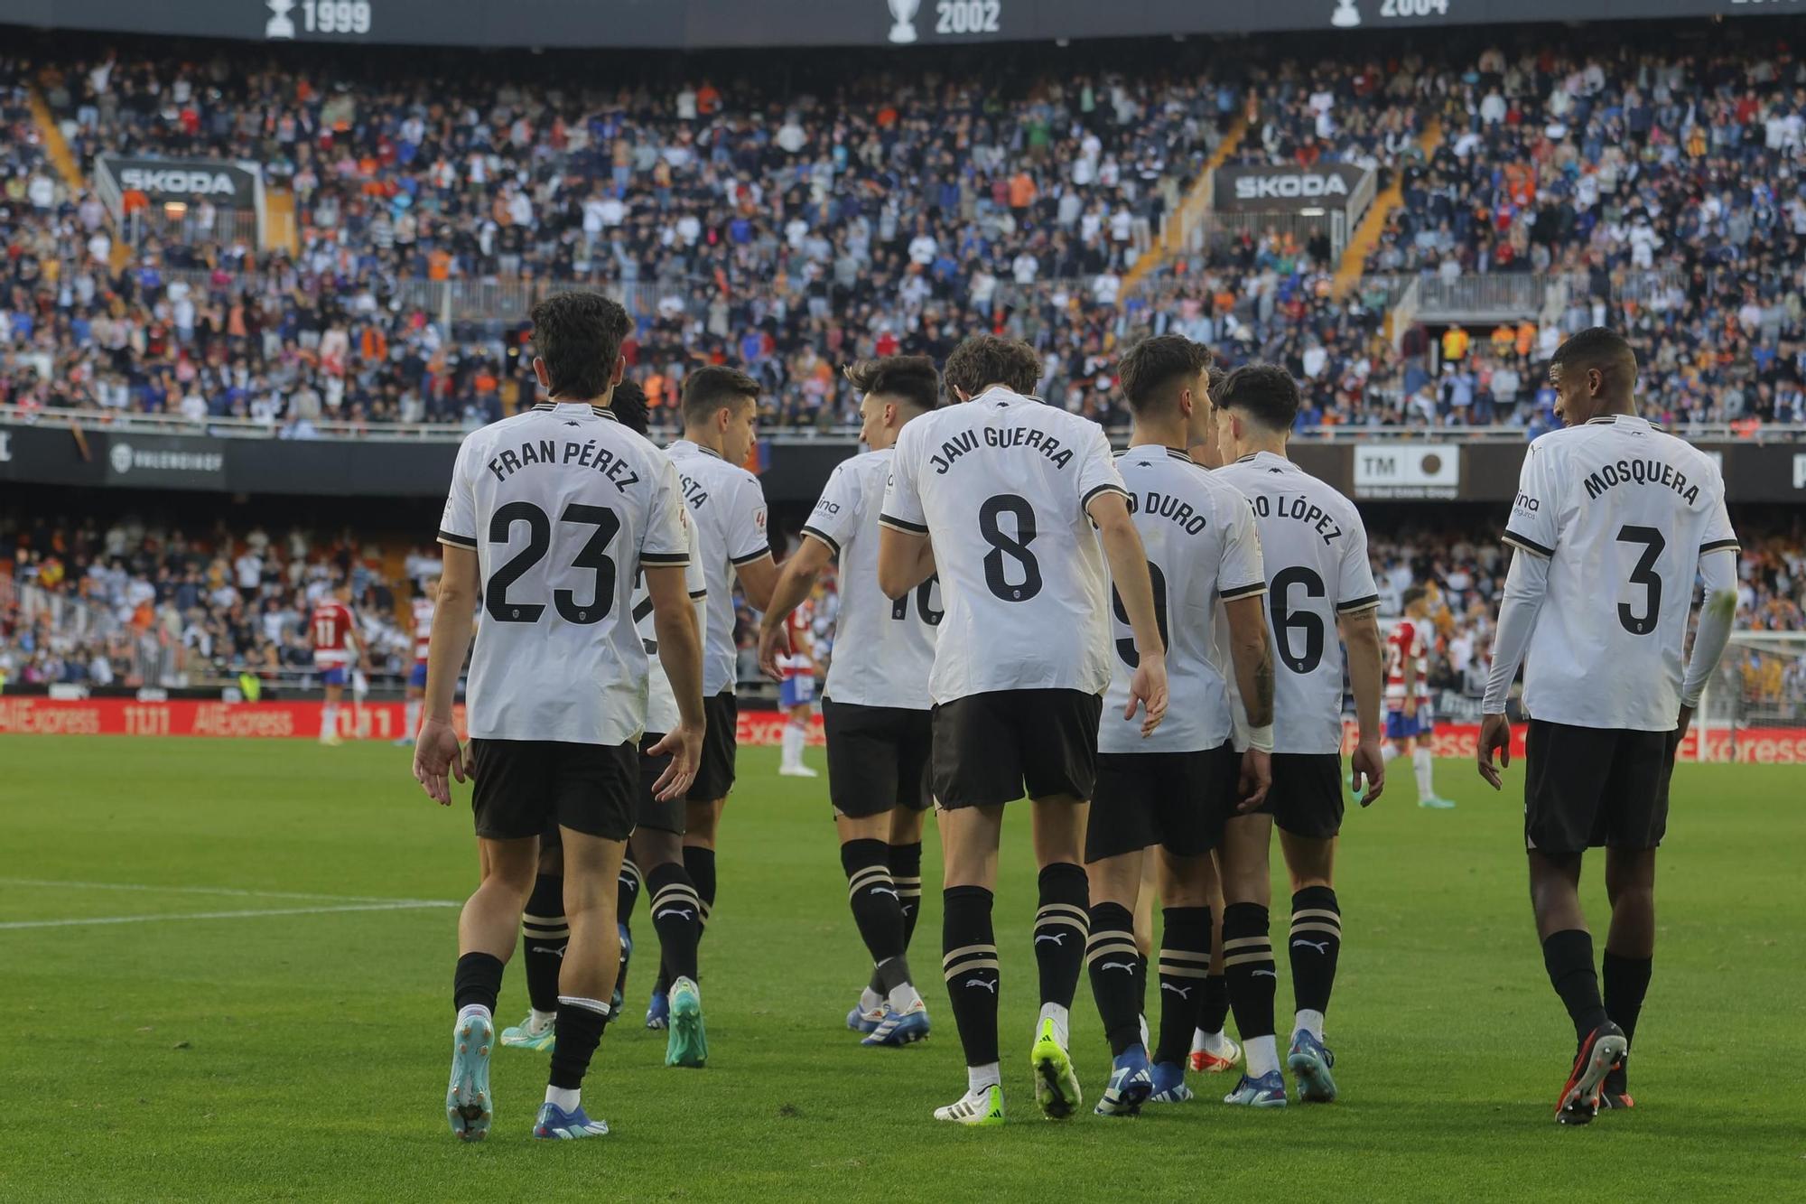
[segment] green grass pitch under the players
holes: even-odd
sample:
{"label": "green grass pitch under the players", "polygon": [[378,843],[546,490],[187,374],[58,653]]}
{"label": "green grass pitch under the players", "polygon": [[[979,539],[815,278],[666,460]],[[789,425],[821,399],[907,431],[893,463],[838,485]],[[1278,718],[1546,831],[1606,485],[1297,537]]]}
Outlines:
{"label": "green grass pitch under the players", "polygon": [[[468,812],[432,806],[406,750],[14,736],[0,767],[0,1200],[1806,1199],[1793,767],[1678,772],[1640,1106],[1584,1130],[1550,1119],[1571,1034],[1530,924],[1521,767],[1494,795],[1441,761],[1457,810],[1420,812],[1400,774],[1351,814],[1329,1012],[1344,1099],[1284,1112],[1224,1108],[1228,1083],[1192,1076],[1201,1099],[1140,1121],[1038,1117],[1033,866],[1013,814],[997,898],[1011,1119],[959,1132],[930,1119],[964,1088],[934,846],[914,955],[936,1034],[860,1049],[842,1018],[865,962],[825,781],[748,750],[703,944],[708,1070],[666,1070],[663,1034],[639,1027],[645,958],[585,1092],[614,1135],[531,1141],[544,1056],[498,1050],[480,1146],[442,1112],[457,913],[377,909],[462,900],[477,873]],[[1280,931],[1284,898],[1277,884]],[[1586,898],[1604,931],[1597,862]],[[144,915],[190,918],[67,924]],[[1289,991],[1282,969],[1282,1018]],[[517,960],[498,1020],[524,1012]],[[1089,1103],[1109,1050],[1084,983],[1073,1018]]]}

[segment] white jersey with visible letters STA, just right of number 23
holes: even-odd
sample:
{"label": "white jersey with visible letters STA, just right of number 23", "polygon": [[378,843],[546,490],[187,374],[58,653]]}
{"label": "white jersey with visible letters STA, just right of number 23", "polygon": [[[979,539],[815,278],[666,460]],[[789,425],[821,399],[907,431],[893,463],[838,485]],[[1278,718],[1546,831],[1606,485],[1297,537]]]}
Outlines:
{"label": "white jersey with visible letters STA, just right of number 23", "polygon": [[739,674],[733,644],[733,566],[771,551],[766,494],[759,477],[706,447],[677,439],[666,448],[683,481],[683,499],[703,533],[708,631],[703,635],[703,696],[731,691]]}

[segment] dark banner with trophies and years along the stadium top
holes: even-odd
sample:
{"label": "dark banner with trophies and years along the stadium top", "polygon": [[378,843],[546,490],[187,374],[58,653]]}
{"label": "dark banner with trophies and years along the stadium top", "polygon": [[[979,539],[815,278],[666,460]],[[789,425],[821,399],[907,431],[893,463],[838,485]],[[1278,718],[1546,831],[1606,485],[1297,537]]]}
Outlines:
{"label": "dark banner with trophies and years along the stadium top", "polygon": [[0,0],[0,24],[253,42],[804,47],[1741,18],[1793,0]]}

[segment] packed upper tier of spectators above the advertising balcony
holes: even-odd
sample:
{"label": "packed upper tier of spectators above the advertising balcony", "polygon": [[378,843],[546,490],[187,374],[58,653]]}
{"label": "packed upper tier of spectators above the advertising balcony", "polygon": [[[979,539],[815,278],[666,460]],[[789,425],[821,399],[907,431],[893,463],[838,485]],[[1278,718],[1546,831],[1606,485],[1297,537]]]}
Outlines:
{"label": "packed upper tier of spectators above the advertising balcony", "polygon": [[[526,307],[578,286],[634,309],[656,403],[733,362],[768,427],[843,428],[840,363],[995,329],[1044,353],[1042,396],[1105,423],[1120,351],[1181,331],[1288,365],[1311,427],[1535,428],[1548,353],[1598,322],[1631,333],[1672,423],[1802,423],[1801,24],[1611,33],[1598,58],[1546,29],[1309,60],[1125,43],[1078,72],[1029,47],[623,74],[22,40],[0,56],[0,403],[468,427],[531,398]],[[206,201],[119,230],[45,154],[33,89],[78,175],[99,154],[262,165],[293,190],[293,253]],[[1398,192],[1340,259],[1297,215],[1205,215],[1172,255],[1214,157]],[[1528,313],[1414,320],[1499,284]]]}

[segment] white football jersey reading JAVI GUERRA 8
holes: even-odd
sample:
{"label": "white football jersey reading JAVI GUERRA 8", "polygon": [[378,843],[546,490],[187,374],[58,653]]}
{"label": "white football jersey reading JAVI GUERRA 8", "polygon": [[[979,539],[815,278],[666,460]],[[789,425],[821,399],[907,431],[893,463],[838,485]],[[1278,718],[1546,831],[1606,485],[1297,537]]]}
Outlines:
{"label": "white football jersey reading JAVI GUERRA 8", "polygon": [[1111,682],[1109,582],[1085,504],[1127,497],[1103,428],[1008,389],[898,436],[880,522],[926,535],[946,613],[928,696]]}

